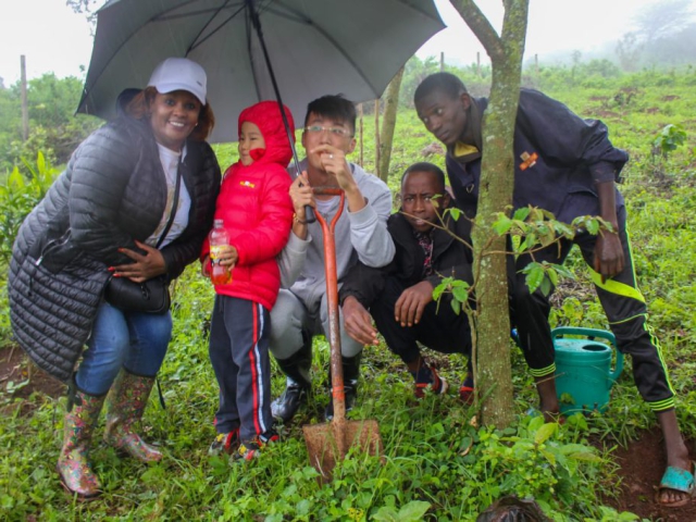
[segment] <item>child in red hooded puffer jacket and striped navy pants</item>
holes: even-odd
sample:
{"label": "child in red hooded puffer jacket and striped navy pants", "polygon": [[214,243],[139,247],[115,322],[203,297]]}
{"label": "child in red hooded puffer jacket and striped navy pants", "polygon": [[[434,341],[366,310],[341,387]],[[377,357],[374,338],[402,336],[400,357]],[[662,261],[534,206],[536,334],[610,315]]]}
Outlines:
{"label": "child in red hooded puffer jacket and striped navy pants", "polygon": [[[293,116],[284,109],[294,136]],[[232,281],[215,285],[210,328],[210,361],[220,385],[211,455],[250,460],[278,438],[271,415],[269,315],[281,287],[275,257],[293,222],[285,170],[291,156],[277,102],[241,112],[239,161],[225,172],[215,207],[215,220],[223,220],[231,239],[215,263],[232,269]],[[201,262],[210,275],[208,240]]]}

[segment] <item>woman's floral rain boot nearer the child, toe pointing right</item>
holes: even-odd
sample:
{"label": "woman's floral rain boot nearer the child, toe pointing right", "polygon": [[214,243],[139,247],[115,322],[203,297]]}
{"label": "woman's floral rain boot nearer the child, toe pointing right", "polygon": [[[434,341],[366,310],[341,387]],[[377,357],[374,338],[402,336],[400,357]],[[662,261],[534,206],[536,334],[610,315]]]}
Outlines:
{"label": "woman's floral rain boot nearer the child, toe pointing right", "polygon": [[107,399],[104,442],[140,462],[162,460],[162,453],[133,431],[133,424],[142,418],[153,384],[154,377],[135,375],[123,369]]}

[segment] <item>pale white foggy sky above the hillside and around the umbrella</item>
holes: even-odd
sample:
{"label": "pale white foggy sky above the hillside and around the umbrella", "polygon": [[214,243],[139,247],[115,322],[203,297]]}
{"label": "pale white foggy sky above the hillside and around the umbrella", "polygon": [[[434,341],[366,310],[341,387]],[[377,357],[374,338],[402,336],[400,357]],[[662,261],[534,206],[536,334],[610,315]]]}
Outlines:
{"label": "pale white foggy sky above the hillside and around the umbrella", "polygon": [[[328,0],[327,0],[328,1]],[[378,0],[374,0],[378,1]],[[419,52],[421,58],[439,58],[448,63],[469,64],[487,57],[476,38],[448,0],[435,0],[448,28],[436,35]],[[617,41],[632,28],[633,16],[658,0],[531,0],[526,53],[539,59],[591,51]],[[480,0],[477,4],[492,24],[502,22],[501,0]],[[696,0],[692,1],[696,10]],[[20,55],[26,54],[27,76],[54,72],[57,76],[83,77],[92,39],[86,17],[74,14],[64,0],[5,0],[0,17],[0,77],[5,87],[20,77]]]}

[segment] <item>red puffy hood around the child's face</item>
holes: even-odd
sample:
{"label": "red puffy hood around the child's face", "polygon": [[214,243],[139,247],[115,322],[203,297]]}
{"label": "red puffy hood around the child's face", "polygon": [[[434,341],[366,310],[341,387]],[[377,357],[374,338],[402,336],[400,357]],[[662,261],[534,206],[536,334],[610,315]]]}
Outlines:
{"label": "red puffy hood around the child's face", "polygon": [[[293,114],[284,107],[285,115],[290,125],[290,134],[293,135],[293,144],[295,144],[295,122]],[[253,123],[259,127],[265,141],[264,149],[252,149],[250,151],[254,163],[258,161],[268,163],[279,163],[287,166],[293,158],[293,149],[288,141],[287,130],[283,125],[283,116],[277,101],[260,101],[248,107],[239,114],[239,123],[237,132],[241,134],[241,124],[245,122]]]}

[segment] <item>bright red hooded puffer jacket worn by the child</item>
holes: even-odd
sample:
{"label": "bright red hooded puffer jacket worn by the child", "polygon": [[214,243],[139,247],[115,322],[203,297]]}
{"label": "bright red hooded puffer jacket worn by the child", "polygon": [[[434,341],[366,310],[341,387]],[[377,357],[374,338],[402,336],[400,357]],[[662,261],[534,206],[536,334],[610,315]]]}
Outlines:
{"label": "bright red hooded puffer jacket worn by the child", "polygon": [[[295,136],[293,115],[287,108],[285,113]],[[285,247],[293,225],[293,181],[285,170],[293,150],[276,101],[261,101],[245,109],[239,114],[239,133],[244,122],[259,127],[265,149],[254,149],[253,163],[245,166],[238,161],[223,177],[215,220],[223,220],[239,259],[232,271],[232,282],[216,285],[215,293],[260,302],[271,310],[281,287],[275,258]],[[201,261],[209,252],[207,239]]]}

